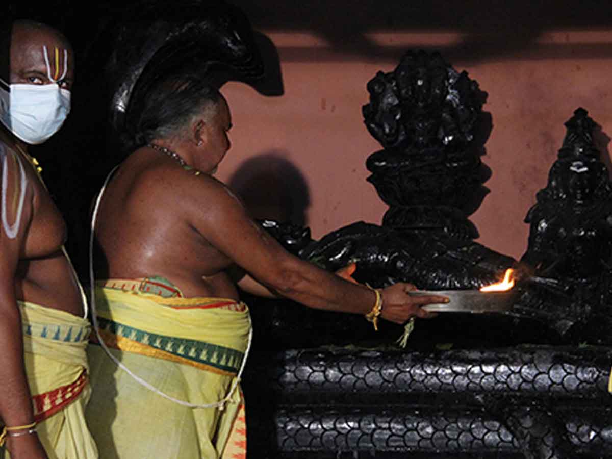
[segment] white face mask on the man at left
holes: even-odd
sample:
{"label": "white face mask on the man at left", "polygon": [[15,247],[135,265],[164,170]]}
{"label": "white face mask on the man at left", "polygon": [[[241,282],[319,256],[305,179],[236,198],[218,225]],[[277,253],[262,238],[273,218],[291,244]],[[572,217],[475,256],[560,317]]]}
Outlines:
{"label": "white face mask on the man at left", "polygon": [[11,84],[10,91],[2,86],[0,122],[26,143],[43,143],[70,113],[70,91],[58,84]]}

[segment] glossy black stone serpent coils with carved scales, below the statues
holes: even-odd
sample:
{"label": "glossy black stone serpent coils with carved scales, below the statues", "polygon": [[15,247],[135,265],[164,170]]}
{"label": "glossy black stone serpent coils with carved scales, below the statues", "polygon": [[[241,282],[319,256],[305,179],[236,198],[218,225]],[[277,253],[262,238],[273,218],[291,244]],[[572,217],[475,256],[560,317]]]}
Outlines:
{"label": "glossy black stone serpent coils with carved scales, below the statues", "polygon": [[253,356],[249,450],[269,458],[612,458],[612,349]]}

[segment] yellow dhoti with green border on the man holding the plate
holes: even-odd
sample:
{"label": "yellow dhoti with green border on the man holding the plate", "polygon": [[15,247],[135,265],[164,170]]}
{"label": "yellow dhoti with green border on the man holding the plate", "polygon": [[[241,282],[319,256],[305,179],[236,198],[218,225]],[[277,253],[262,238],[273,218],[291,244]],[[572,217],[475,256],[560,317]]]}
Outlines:
{"label": "yellow dhoti with green border on the man holding the plate", "polygon": [[222,408],[180,405],[139,384],[92,344],[86,414],[100,457],[244,458],[244,403],[239,387],[232,389],[248,346],[247,307],[218,298],[163,297],[137,284],[107,281],[96,289],[100,335],[111,353],[177,400],[209,405],[231,397]]}

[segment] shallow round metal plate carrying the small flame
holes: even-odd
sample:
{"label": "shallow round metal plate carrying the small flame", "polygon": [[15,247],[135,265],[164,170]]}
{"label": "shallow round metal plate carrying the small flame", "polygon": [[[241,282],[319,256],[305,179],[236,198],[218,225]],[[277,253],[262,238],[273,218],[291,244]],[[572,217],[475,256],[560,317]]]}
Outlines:
{"label": "shallow round metal plate carrying the small flame", "polygon": [[428,312],[463,312],[485,313],[503,312],[512,309],[517,292],[481,292],[480,290],[439,290],[439,291],[412,291],[412,296],[439,295],[449,298],[448,303],[432,303],[423,306]]}

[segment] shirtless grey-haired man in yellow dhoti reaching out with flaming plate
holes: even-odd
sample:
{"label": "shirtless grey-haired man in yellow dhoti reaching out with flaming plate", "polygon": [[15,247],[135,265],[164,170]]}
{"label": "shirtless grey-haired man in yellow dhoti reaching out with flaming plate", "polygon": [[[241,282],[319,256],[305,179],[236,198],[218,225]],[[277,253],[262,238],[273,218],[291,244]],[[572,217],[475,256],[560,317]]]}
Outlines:
{"label": "shirtless grey-haired man in yellow dhoti reaching out with flaming plate", "polygon": [[[108,184],[97,217],[106,273],[96,297],[103,340],[160,392],[200,405],[231,392],[250,326],[237,286],[361,315],[382,300],[381,317],[396,323],[425,317],[421,305],[444,301],[411,297],[414,286],[408,284],[377,293],[347,282],[290,255],[261,230],[213,176],[230,149],[231,115],[223,96],[197,75],[166,75],[138,97],[136,90],[132,100],[140,105],[130,102],[128,109],[138,147]],[[230,274],[236,267],[244,277]],[[197,308],[209,316],[200,321]],[[222,312],[228,312],[226,321]],[[187,323],[197,330],[183,328]],[[184,408],[151,390],[138,392],[138,383],[99,349],[90,355],[94,397],[88,420],[96,441],[113,442],[115,449],[101,457],[149,457],[155,451],[165,458],[243,457],[233,450],[244,440],[244,430],[240,438],[234,428],[241,419],[239,393],[226,405]],[[200,373],[187,373],[192,368]]]}

